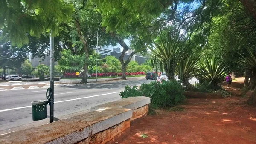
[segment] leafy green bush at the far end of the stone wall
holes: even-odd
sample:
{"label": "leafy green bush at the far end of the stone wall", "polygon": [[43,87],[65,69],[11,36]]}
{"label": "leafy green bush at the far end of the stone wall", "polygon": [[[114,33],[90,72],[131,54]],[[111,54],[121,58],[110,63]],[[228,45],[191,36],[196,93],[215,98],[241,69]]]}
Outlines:
{"label": "leafy green bush at the far end of the stone wall", "polygon": [[137,86],[126,86],[125,90],[120,93],[121,98],[149,97],[153,109],[179,105],[185,100],[183,88],[177,81],[163,81],[162,84],[152,81],[149,84],[142,84],[140,89],[137,88]]}

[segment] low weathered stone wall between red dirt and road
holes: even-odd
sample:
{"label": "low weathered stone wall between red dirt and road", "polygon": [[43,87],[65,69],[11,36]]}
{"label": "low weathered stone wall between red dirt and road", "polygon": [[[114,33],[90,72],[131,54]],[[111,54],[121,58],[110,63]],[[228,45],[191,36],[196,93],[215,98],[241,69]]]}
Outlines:
{"label": "low weathered stone wall between red dirt and road", "polygon": [[148,97],[130,97],[91,108],[91,112],[0,136],[0,144],[105,144],[130,122],[146,115]]}

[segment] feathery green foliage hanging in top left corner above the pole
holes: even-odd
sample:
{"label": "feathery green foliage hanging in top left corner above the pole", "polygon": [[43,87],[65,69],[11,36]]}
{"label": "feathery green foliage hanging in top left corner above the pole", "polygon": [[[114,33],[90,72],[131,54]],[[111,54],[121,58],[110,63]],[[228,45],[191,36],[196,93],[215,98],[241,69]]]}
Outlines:
{"label": "feathery green foliage hanging in top left corner above the pole", "polygon": [[28,33],[39,37],[52,29],[56,35],[58,23],[69,21],[72,12],[73,7],[64,0],[1,0],[1,37],[22,46],[29,43]]}

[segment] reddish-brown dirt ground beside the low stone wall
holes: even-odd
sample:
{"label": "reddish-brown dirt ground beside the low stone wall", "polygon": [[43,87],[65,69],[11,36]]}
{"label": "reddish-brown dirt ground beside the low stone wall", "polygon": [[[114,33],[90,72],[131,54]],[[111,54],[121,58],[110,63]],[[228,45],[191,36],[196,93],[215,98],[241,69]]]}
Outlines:
{"label": "reddish-brown dirt ground beside the low stone wall", "polygon": [[[157,115],[136,120],[115,143],[256,144],[256,107],[244,103],[249,97],[234,96],[241,93],[242,86],[243,79],[237,78],[228,90],[232,97],[190,98],[176,106],[179,111],[157,110]],[[148,138],[140,137],[142,134]]]}

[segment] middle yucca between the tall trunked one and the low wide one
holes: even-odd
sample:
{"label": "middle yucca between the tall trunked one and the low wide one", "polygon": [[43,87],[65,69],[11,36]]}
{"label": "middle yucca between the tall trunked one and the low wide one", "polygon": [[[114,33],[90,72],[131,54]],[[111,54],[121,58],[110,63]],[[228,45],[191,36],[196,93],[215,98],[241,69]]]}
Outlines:
{"label": "middle yucca between the tall trunked one and the low wide one", "polygon": [[187,87],[190,85],[188,78],[203,76],[207,74],[207,72],[202,71],[205,67],[198,68],[196,66],[199,59],[199,55],[192,55],[188,58],[179,59],[178,64],[175,67],[175,73],[179,75],[179,79],[182,81],[184,86]]}

